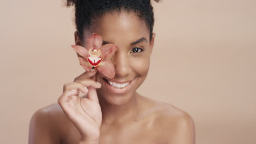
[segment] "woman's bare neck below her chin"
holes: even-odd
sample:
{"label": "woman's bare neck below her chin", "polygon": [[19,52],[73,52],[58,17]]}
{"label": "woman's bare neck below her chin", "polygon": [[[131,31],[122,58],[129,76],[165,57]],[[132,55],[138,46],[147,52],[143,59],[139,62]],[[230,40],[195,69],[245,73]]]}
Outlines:
{"label": "woman's bare neck below her chin", "polygon": [[120,105],[110,104],[101,96],[98,97],[102,111],[102,123],[119,123],[136,118],[139,113],[138,97],[139,95],[135,93],[129,101]]}

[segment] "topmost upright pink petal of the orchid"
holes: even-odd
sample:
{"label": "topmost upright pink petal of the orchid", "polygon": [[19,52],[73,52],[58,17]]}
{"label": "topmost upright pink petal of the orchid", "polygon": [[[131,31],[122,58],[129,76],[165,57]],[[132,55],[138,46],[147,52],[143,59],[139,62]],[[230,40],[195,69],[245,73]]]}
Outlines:
{"label": "topmost upright pink petal of the orchid", "polygon": [[94,33],[87,39],[87,49],[100,49],[102,38],[100,34]]}

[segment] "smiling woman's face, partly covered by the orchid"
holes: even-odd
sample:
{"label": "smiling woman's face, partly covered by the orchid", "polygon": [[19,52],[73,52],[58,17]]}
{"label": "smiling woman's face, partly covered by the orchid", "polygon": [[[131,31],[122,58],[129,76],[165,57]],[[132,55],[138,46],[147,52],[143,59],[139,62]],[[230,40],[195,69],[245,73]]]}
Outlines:
{"label": "smiling woman's face, partly covered by the orchid", "polygon": [[96,74],[96,81],[102,83],[102,87],[97,89],[98,97],[113,105],[124,104],[135,95],[136,89],[147,77],[155,34],[150,42],[146,23],[134,13],[124,11],[108,13],[96,19],[94,27],[84,31],[84,41],[91,33],[100,34],[103,45],[112,43],[118,46],[114,55],[108,58],[114,64],[114,78]]}

